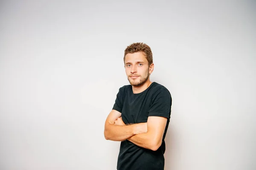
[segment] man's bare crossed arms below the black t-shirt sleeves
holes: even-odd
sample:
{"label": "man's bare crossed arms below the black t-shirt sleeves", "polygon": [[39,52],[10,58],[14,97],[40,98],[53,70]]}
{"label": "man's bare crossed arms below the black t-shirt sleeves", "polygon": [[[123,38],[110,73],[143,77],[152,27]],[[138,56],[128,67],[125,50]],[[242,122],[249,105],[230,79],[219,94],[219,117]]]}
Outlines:
{"label": "man's bare crossed arms below the black t-shirt sleeves", "polygon": [[147,123],[125,125],[121,113],[112,110],[105,122],[105,139],[123,141],[128,139],[132,143],[150,150],[157,150],[163,139],[167,118],[149,116]]}

